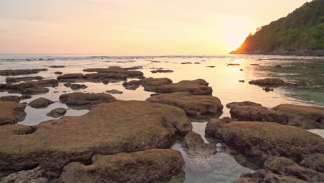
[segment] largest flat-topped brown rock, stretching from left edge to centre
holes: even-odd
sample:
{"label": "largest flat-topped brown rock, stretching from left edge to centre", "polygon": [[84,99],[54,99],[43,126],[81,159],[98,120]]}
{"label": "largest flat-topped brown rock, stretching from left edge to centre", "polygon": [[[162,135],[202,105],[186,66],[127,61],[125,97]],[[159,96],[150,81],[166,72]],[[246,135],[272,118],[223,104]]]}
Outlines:
{"label": "largest flat-topped brown rock, stretching from left edge to centre", "polygon": [[83,116],[0,128],[0,171],[35,165],[60,173],[71,162],[87,164],[96,154],[112,155],[169,148],[177,134],[192,130],[178,107],[143,101],[117,101]]}

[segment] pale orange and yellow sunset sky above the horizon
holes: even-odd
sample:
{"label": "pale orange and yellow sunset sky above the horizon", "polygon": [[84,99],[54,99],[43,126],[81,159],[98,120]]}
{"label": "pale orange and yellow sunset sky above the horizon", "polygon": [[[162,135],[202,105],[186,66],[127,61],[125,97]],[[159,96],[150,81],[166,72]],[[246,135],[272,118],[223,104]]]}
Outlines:
{"label": "pale orange and yellow sunset sky above the horizon", "polygon": [[0,54],[224,55],[305,0],[0,0]]}

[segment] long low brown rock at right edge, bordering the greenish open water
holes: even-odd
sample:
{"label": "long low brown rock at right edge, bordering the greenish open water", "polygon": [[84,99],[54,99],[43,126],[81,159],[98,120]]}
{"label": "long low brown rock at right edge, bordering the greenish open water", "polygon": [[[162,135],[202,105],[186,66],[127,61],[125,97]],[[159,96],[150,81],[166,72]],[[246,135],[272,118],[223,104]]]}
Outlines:
{"label": "long low brown rock at right edge, bordering the greenish open water", "polygon": [[324,107],[282,104],[267,109],[248,103],[228,107],[231,107],[231,117],[239,121],[269,121],[305,129],[324,129]]}

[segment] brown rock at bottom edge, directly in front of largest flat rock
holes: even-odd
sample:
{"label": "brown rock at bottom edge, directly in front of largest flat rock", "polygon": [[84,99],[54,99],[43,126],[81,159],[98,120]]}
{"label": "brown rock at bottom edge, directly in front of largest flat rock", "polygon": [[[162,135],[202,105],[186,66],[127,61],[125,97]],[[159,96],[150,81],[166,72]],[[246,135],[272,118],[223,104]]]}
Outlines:
{"label": "brown rock at bottom edge, directly in front of largest flat rock", "polygon": [[65,166],[60,180],[63,183],[165,182],[181,173],[184,165],[181,153],[171,149],[94,155],[91,165],[73,162]]}

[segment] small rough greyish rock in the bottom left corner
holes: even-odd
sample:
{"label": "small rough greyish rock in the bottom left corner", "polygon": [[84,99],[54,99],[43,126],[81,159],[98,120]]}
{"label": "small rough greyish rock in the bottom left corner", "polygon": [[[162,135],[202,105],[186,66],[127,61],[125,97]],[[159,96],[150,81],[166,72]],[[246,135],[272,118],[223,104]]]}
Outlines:
{"label": "small rough greyish rock in the bottom left corner", "polygon": [[46,172],[42,167],[38,166],[30,171],[19,171],[11,173],[8,177],[1,180],[2,183],[49,183],[46,178]]}

